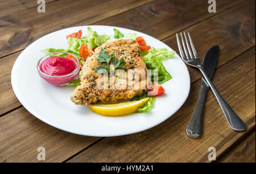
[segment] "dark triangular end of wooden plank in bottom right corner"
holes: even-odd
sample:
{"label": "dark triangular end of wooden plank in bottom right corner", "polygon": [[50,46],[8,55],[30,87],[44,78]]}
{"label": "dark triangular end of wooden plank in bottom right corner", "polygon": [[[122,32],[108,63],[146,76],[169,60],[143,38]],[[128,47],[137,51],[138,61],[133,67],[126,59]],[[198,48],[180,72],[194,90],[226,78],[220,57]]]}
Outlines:
{"label": "dark triangular end of wooden plank in bottom right corner", "polygon": [[217,161],[218,163],[255,163],[255,129]]}

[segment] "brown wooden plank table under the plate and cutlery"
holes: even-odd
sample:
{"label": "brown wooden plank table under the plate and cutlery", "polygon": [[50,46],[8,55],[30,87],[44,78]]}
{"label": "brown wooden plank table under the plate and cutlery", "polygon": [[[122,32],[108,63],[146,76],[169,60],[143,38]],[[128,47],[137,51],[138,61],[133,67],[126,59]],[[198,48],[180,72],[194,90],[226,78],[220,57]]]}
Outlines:
{"label": "brown wooden plank table under the plate and cutlery", "polygon": [[[217,1],[208,13],[205,0],[46,0],[0,1],[0,161],[38,162],[255,162],[255,1]],[[11,68],[28,44],[61,28],[104,24],[138,30],[177,49],[175,33],[189,31],[200,57],[214,44],[221,52],[213,84],[245,121],[247,130],[230,129],[213,93],[205,104],[204,132],[191,139],[185,128],[195,109],[201,74],[188,67],[191,92],[176,114],[137,134],[98,138],[71,134],[28,113],[11,88]],[[29,85],[29,84],[28,84]],[[36,89],[35,89],[36,90]]]}

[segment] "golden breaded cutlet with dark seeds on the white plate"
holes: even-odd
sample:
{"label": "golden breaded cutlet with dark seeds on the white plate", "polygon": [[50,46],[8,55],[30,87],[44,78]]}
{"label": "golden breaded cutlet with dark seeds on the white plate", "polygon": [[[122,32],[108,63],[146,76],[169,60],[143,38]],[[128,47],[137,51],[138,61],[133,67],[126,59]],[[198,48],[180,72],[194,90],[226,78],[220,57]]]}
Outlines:
{"label": "golden breaded cutlet with dark seeds on the white plate", "polygon": [[[126,89],[99,89],[100,77],[95,69],[104,63],[100,63],[96,58],[99,56],[101,49],[114,54],[115,59],[123,59],[123,65],[125,65],[126,75],[129,69],[137,69],[147,72],[146,64],[139,53],[139,44],[133,39],[117,39],[115,41],[109,41],[97,47],[94,50],[94,55],[88,57],[86,63],[80,71],[81,85],[77,86],[71,95],[71,101],[76,105],[88,105],[96,102],[117,102],[119,100],[132,98],[137,95],[142,95],[147,91],[142,88],[133,88],[128,86],[127,82]],[[145,82],[146,79],[139,77],[140,82]],[[146,82],[145,82],[146,83]],[[110,86],[110,84],[108,84]],[[117,87],[117,86],[115,86]],[[139,86],[140,87],[140,86]]]}

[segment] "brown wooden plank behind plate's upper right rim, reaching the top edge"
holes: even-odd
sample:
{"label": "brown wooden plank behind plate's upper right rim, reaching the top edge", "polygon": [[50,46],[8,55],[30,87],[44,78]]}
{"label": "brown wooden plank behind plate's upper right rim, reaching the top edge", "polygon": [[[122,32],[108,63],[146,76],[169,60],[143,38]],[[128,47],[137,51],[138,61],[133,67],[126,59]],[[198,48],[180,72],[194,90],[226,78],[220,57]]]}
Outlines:
{"label": "brown wooden plank behind plate's upper right rim, reaching the top edge", "polygon": [[[217,13],[208,13],[207,1],[160,0],[96,22],[95,24],[118,26],[144,32],[160,40],[191,27],[210,16],[218,15],[243,1],[218,1]],[[251,3],[253,3],[251,1]],[[86,23],[81,23],[86,24]]]}

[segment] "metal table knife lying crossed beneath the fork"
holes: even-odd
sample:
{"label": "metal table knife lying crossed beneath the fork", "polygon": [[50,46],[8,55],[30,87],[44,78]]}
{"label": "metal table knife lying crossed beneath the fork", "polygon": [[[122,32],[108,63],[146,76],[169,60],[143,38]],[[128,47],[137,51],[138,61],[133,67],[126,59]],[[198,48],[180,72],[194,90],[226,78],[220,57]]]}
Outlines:
{"label": "metal table knife lying crossed beneath the fork", "polygon": [[[213,77],[213,73],[218,62],[219,52],[220,47],[218,45],[214,45],[205,53],[203,60],[203,68],[210,79],[212,79]],[[207,97],[208,88],[209,85],[205,81],[204,77],[202,77],[199,98],[197,99],[195,110],[193,111],[192,117],[186,129],[187,135],[191,138],[199,138],[202,135],[204,103]]]}

